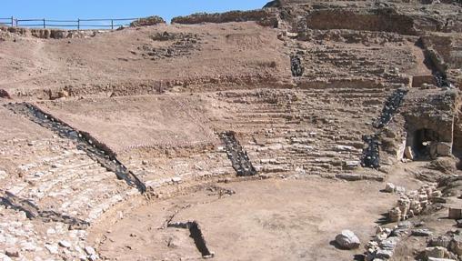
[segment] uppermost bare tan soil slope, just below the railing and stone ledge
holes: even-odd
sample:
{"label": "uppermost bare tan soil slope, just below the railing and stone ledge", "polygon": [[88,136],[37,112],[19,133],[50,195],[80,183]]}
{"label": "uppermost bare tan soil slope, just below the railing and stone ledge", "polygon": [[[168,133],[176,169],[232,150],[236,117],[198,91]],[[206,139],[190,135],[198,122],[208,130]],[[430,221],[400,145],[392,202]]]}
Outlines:
{"label": "uppermost bare tan soil slope, just below the railing and stone ledge", "polygon": [[[138,47],[175,42],[149,37],[164,32],[193,34],[201,40],[188,50],[189,55],[154,61],[144,58]],[[16,42],[0,45],[0,89],[8,91],[218,75],[290,75],[283,42],[276,38],[276,31],[251,22],[207,25],[207,30],[202,25],[156,25],[85,39],[18,37]]]}

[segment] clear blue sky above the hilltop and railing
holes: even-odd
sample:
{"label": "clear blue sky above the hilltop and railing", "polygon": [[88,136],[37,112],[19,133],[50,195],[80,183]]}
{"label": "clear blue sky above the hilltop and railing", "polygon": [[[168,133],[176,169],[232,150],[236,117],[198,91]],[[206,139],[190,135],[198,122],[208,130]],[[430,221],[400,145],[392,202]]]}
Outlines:
{"label": "clear blue sky above the hilltop and railing", "polygon": [[71,19],[131,18],[261,8],[269,0],[3,0],[0,17]]}

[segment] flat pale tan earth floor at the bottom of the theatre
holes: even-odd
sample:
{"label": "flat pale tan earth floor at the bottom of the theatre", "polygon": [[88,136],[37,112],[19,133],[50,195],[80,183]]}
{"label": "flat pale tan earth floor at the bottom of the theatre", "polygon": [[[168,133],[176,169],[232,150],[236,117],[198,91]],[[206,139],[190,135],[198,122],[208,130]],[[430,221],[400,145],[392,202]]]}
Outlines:
{"label": "flat pale tan earth floor at the bottom of the theatre", "polygon": [[216,192],[205,190],[153,202],[114,226],[96,228],[92,235],[104,235],[98,247],[101,256],[109,260],[200,259],[186,231],[159,229],[178,211],[172,222],[196,220],[207,246],[216,252],[215,260],[351,260],[363,250],[339,250],[330,241],[348,228],[367,242],[381,214],[397,200],[380,193],[383,185],[377,182],[309,178],[219,186],[236,194],[219,199]]}

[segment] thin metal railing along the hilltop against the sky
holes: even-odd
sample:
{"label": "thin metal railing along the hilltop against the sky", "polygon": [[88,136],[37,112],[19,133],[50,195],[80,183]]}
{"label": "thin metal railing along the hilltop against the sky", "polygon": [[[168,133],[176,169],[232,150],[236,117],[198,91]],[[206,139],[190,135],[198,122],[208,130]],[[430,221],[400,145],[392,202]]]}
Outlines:
{"label": "thin metal railing along the hilltop against the sky", "polygon": [[117,19],[80,19],[77,20],[54,20],[54,19],[17,19],[15,17],[0,18],[0,25],[19,27],[40,28],[65,28],[65,29],[106,29],[114,30],[121,26],[130,25],[139,18]]}

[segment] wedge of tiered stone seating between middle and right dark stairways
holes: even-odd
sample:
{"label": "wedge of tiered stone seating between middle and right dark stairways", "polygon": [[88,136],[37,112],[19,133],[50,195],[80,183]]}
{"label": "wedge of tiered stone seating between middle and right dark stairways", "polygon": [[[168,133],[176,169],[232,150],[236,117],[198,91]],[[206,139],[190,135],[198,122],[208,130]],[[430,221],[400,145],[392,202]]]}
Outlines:
{"label": "wedge of tiered stone seating between middle and right dark stairways", "polygon": [[298,90],[219,93],[236,131],[261,173],[335,176],[359,166],[372,122],[395,85],[346,84]]}

